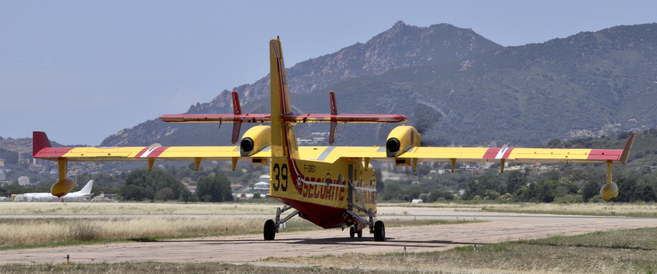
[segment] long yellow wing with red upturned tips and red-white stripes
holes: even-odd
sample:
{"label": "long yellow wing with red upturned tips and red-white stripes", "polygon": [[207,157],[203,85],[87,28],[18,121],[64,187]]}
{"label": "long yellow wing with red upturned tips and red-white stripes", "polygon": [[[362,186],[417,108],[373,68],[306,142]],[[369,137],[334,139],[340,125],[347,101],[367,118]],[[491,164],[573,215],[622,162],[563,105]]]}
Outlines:
{"label": "long yellow wing with red upturned tips and red-white stripes", "polygon": [[[193,161],[193,160],[252,160],[270,158],[270,147],[251,156],[241,156],[240,147],[50,147],[41,145],[35,132],[34,157],[68,161]],[[45,137],[45,133],[43,133]],[[45,137],[47,141],[47,137]],[[564,164],[625,164],[633,141],[625,149],[569,149],[569,148],[472,148],[472,147],[411,147],[396,157],[386,156],[386,147],[299,147],[300,159],[336,162],[340,158],[369,158],[374,161],[414,162],[532,162]],[[41,142],[43,143],[43,142]]]}

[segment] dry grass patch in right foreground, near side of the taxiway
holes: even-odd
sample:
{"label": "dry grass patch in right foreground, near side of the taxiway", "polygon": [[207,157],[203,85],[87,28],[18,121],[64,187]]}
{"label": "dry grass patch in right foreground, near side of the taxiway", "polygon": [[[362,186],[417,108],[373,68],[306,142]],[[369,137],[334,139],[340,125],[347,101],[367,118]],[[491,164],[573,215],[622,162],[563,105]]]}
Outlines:
{"label": "dry grass patch in right foreground, near side of the taxiway", "polygon": [[455,248],[445,252],[367,256],[268,258],[268,262],[310,262],[327,267],[363,265],[496,273],[654,273],[657,271],[656,228],[622,229],[571,237],[520,240]]}

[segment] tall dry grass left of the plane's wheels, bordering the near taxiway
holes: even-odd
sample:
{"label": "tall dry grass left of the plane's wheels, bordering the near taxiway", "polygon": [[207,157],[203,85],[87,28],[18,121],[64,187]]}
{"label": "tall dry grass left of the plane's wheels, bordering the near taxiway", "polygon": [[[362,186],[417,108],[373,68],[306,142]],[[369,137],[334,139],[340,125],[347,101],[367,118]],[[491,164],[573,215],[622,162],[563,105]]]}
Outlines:
{"label": "tall dry grass left of the plane's wheels, bordering the near taxiway", "polygon": [[[235,217],[100,219],[5,219],[0,248],[29,247],[90,240],[164,239],[261,233],[265,219]],[[320,229],[304,219],[290,219],[287,231]]]}

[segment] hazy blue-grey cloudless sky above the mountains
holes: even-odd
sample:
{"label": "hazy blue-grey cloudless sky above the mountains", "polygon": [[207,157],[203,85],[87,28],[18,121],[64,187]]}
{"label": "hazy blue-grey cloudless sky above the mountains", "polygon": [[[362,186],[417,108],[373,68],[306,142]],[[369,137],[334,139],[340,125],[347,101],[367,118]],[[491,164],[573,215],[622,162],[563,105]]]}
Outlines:
{"label": "hazy blue-grey cloudless sky above the mountains", "polygon": [[269,70],[365,43],[397,20],[501,45],[657,22],[657,1],[0,0],[0,136],[99,145]]}

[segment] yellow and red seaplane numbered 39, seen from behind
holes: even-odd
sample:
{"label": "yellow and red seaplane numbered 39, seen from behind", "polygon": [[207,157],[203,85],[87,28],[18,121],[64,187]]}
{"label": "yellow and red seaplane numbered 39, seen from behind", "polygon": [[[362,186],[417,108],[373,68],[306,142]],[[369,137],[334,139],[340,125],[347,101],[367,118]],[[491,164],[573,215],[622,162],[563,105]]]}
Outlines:
{"label": "yellow and red seaplane numbered 39, seen from behind", "polygon": [[[330,114],[295,114],[288,92],[283,49],[279,39],[269,41],[271,66],[271,114],[242,114],[237,92],[233,91],[233,114],[169,114],[160,119],[171,123],[234,123],[233,144],[229,147],[51,147],[43,132],[34,132],[34,158],[58,162],[59,181],[51,193],[61,197],[69,193],[74,182],[66,178],[71,161],[147,161],[149,170],[156,160],[201,161],[230,160],[233,170],[237,161],[253,165],[269,164],[271,198],[281,201],[275,219],[265,222],[265,240],[273,240],[279,225],[290,217],[300,216],[325,229],[350,227],[350,236],[362,237],[369,227],[374,240],[385,240],[385,227],[376,217],[376,183],[371,161],[392,161],[397,166],[420,162],[451,162],[452,171],[459,162],[505,162],[606,164],[607,182],[600,189],[604,200],[618,196],[612,183],[612,164],[625,164],[634,133],[625,148],[551,149],[551,148],[461,148],[420,147],[420,133],[411,126],[392,130],[386,144],[380,147],[333,147],[338,123],[403,123],[407,118],[397,114],[338,114],[335,95],[329,93]],[[255,126],[242,135],[242,123],[270,123]],[[297,123],[329,123],[330,147],[300,147],[294,126]],[[287,210],[292,214],[281,218]]]}

